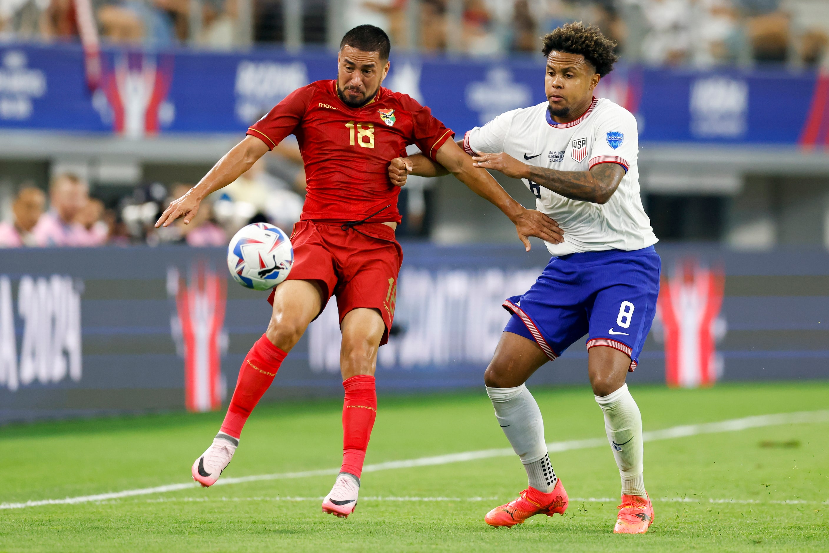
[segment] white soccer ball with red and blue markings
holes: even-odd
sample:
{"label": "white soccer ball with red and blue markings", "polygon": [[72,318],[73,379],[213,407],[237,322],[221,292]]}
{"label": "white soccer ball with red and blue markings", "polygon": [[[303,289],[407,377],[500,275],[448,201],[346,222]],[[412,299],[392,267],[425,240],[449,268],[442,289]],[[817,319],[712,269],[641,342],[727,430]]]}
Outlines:
{"label": "white soccer ball with red and blue markings", "polygon": [[288,278],[292,265],[291,240],[268,223],[245,226],[227,246],[227,268],[245,288],[272,289]]}

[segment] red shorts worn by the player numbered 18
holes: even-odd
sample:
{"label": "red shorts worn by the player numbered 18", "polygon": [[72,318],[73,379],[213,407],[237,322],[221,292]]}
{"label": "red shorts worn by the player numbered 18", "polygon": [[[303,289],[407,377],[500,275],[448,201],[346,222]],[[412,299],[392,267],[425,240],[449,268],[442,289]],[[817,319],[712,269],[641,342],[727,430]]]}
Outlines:
{"label": "red shorts worn by the player numbered 18", "polygon": [[[403,262],[395,230],[382,223],[342,230],[342,223],[299,221],[293,226],[291,244],[293,267],[288,280],[316,280],[322,288],[323,309],[332,295],[337,296],[340,323],[351,309],[376,309],[385,323],[380,345],[388,342]],[[272,305],[274,293],[268,298]]]}

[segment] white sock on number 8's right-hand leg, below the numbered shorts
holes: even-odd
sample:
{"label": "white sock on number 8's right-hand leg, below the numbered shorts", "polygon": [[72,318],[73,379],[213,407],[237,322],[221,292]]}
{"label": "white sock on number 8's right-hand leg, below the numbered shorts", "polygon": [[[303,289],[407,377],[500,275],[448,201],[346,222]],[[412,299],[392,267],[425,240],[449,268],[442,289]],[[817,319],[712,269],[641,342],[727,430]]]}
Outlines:
{"label": "white sock on number 8's right-hand leg, below the numbered shorts", "polygon": [[645,497],[642,478],[642,415],[628,385],[604,397],[595,396],[604,411],[604,429],[622,476],[622,494]]}

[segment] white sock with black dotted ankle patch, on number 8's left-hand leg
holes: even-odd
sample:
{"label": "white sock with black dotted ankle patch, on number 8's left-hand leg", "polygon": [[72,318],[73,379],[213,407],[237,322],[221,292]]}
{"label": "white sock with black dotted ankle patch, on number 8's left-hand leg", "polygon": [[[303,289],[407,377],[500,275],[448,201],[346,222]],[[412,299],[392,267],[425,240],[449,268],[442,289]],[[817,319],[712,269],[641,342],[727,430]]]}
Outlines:
{"label": "white sock with black dotted ankle patch, on number 8's left-hand leg", "polygon": [[536,398],[523,384],[515,388],[487,386],[487,395],[512,450],[524,463],[530,485],[540,492],[552,492],[557,478],[547,455],[544,421]]}

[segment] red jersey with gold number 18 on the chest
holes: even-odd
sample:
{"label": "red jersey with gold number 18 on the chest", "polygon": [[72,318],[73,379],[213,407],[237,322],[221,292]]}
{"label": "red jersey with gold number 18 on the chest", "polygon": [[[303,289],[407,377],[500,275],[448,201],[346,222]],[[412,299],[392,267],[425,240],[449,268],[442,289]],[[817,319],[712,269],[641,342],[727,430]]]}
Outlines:
{"label": "red jersey with gold number 18 on the chest", "polygon": [[367,222],[396,223],[400,187],[389,180],[390,161],[405,156],[410,144],[434,159],[454,135],[429,108],[386,88],[369,104],[351,108],[337,95],[336,80],[294,90],[248,134],[271,149],[296,135],[308,182],[303,221],[361,221],[376,214]]}

